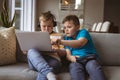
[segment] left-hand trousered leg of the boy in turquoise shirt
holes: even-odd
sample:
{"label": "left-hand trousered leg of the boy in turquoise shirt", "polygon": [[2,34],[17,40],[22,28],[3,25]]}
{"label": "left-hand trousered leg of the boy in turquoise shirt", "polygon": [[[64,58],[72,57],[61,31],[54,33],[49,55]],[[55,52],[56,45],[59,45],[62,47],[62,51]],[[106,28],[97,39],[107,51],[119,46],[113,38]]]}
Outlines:
{"label": "left-hand trousered leg of the boy in turquoise shirt", "polygon": [[71,80],[85,80],[85,70],[82,64],[74,62],[69,67]]}

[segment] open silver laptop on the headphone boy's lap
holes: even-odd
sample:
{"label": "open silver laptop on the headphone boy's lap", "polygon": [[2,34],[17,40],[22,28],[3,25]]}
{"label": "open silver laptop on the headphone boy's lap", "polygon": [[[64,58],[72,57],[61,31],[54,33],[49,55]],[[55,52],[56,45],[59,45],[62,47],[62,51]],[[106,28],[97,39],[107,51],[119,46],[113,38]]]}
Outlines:
{"label": "open silver laptop on the headphone boy's lap", "polygon": [[40,51],[52,51],[48,32],[17,32],[16,35],[23,51],[28,51],[31,48],[36,48]]}

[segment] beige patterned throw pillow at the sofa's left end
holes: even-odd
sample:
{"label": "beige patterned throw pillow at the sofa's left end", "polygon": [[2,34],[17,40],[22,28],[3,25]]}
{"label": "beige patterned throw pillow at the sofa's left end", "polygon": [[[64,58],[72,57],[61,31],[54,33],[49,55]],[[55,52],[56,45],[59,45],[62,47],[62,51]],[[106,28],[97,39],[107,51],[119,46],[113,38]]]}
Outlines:
{"label": "beige patterned throw pillow at the sofa's left end", "polygon": [[16,62],[16,35],[14,27],[0,30],[0,65]]}

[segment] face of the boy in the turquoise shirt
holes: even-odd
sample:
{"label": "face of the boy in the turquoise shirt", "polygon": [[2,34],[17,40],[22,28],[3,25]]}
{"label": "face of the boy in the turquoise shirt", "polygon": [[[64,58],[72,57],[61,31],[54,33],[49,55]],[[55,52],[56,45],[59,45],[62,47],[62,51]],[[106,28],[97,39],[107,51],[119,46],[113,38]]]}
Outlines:
{"label": "face of the boy in the turquoise shirt", "polygon": [[75,26],[73,21],[66,21],[64,24],[64,32],[68,37],[75,37],[76,32],[79,30],[79,25]]}

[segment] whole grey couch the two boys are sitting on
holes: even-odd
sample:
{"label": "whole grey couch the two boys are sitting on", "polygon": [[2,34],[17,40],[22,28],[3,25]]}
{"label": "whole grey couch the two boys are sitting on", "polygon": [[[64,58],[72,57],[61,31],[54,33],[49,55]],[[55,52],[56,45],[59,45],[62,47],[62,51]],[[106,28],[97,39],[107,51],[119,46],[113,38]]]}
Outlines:
{"label": "whole grey couch the two boys are sitting on", "polygon": [[[16,33],[19,34],[19,33]],[[20,33],[22,34],[22,33]],[[103,70],[108,80],[120,80],[120,34],[90,33],[99,52]],[[35,80],[37,72],[28,68],[26,57],[18,49],[17,60],[13,65],[0,66],[0,80]],[[19,54],[18,54],[19,53]],[[58,74],[60,80],[70,80],[69,72]]]}

